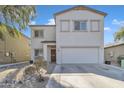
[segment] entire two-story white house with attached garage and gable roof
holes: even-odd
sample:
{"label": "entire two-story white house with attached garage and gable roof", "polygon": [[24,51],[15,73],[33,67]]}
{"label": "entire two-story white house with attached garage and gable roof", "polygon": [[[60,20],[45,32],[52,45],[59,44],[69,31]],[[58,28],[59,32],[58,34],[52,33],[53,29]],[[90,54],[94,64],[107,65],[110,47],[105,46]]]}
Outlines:
{"label": "entire two-story white house with attached garage and gable roof", "polygon": [[54,14],[56,25],[30,25],[31,58],[49,63],[104,63],[106,13],[76,6]]}

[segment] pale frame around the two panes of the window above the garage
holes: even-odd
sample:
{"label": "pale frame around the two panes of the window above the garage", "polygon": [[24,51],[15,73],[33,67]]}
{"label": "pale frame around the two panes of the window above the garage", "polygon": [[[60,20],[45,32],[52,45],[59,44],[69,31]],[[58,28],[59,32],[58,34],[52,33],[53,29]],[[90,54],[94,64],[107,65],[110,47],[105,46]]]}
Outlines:
{"label": "pale frame around the two panes of the window above the garage", "polygon": [[[75,29],[75,22],[79,22],[80,24],[80,28],[79,28],[79,30],[76,30]],[[86,29],[85,30],[83,30],[83,29],[81,29],[81,22],[83,23],[83,22],[85,22],[86,23]],[[74,32],[87,32],[88,31],[88,20],[74,20],[74,22],[73,22],[73,24],[74,24]]]}

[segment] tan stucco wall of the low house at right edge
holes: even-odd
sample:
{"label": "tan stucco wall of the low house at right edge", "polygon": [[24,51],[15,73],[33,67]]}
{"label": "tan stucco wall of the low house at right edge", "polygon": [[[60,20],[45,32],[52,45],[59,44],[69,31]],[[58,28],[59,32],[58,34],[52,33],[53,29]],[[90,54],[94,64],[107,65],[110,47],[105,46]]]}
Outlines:
{"label": "tan stucco wall of the low house at right edge", "polygon": [[[111,57],[111,53],[113,56]],[[117,62],[117,57],[124,55],[124,45],[119,45],[115,47],[108,47],[104,49],[105,61]]]}

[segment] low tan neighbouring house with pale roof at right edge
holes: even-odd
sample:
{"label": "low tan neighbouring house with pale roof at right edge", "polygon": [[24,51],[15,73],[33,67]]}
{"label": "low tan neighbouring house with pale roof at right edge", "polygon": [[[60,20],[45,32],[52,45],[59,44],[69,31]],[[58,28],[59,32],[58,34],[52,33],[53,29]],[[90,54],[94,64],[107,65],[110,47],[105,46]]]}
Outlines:
{"label": "low tan neighbouring house with pale roof at right edge", "polygon": [[117,58],[124,56],[124,42],[115,42],[105,45],[104,47],[105,61],[111,61],[112,65],[119,66]]}

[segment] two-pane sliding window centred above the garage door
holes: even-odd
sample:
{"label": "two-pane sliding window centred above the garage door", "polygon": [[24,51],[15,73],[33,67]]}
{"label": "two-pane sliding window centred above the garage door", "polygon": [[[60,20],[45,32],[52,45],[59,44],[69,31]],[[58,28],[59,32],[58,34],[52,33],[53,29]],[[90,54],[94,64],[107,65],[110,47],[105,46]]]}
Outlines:
{"label": "two-pane sliding window centred above the garage door", "polygon": [[86,31],[87,30],[87,21],[75,21],[74,30]]}

